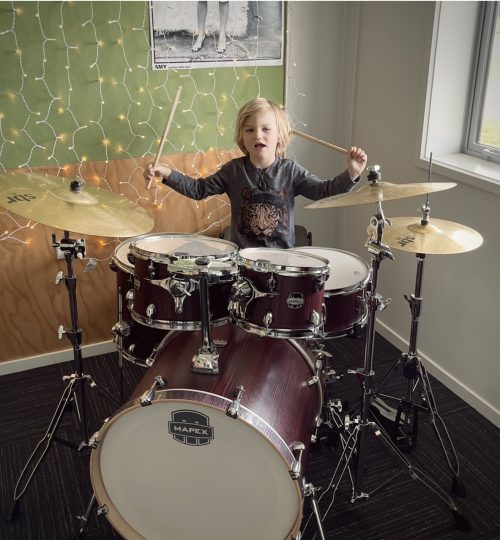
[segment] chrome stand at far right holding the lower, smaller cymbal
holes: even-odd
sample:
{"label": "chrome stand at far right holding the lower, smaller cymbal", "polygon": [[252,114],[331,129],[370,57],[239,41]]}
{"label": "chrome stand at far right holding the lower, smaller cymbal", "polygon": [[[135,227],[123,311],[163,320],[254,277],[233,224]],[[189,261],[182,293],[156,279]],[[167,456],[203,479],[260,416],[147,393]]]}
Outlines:
{"label": "chrome stand at far right holding the lower, smaller cymbal", "polygon": [[[422,206],[422,225],[427,225],[429,223],[429,214],[430,208],[427,201],[427,203]],[[402,239],[402,241],[404,241],[404,239]],[[377,396],[381,396],[384,399],[396,401],[397,410],[391,435],[394,442],[399,444],[400,447],[402,444],[405,444],[405,447],[408,450],[413,449],[417,444],[419,411],[430,414],[434,432],[439,445],[441,446],[448,468],[452,473],[452,490],[457,495],[464,497],[465,487],[460,479],[460,465],[457,453],[444,420],[438,412],[427,371],[422,364],[421,357],[417,353],[418,324],[423,303],[422,280],[425,254],[417,253],[416,257],[417,273],[415,278],[415,292],[411,295],[404,295],[405,300],[410,306],[411,312],[411,330],[408,352],[403,353],[389,368],[379,385],[375,388],[373,399],[376,399]],[[393,372],[398,365],[402,366],[402,373],[406,379],[405,395],[400,399],[381,393],[390,373]],[[415,393],[419,385],[422,389],[422,404],[418,404],[415,400]]]}

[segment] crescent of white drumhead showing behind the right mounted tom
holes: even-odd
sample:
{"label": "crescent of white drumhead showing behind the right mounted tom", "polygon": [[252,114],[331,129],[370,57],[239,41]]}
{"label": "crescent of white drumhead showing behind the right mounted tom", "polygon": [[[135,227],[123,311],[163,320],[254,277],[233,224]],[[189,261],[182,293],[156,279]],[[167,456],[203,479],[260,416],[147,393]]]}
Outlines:
{"label": "crescent of white drumhead showing behind the right mounted tom", "polygon": [[312,253],[330,262],[330,276],[325,283],[325,292],[351,289],[368,280],[370,273],[368,265],[354,253],[314,246],[294,249],[304,253]]}

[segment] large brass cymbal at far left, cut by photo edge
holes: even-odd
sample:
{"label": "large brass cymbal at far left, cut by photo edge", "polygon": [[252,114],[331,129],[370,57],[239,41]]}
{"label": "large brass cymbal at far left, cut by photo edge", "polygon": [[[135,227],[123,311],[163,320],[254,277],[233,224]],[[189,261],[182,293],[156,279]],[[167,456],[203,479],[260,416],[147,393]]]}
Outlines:
{"label": "large brass cymbal at far left, cut by photo edge", "polygon": [[130,237],[153,228],[147,212],[123,195],[72,178],[0,173],[0,206],[65,231]]}

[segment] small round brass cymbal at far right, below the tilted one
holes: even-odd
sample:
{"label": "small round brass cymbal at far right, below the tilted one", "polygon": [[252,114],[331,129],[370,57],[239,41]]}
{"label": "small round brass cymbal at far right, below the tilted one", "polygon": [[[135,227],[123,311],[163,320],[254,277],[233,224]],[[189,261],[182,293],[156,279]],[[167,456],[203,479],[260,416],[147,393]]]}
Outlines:
{"label": "small round brass cymbal at far right, below the tilted one", "polygon": [[[430,219],[426,225],[418,217],[396,217],[389,221],[392,224],[384,226],[382,242],[401,251],[450,255],[472,251],[483,243],[478,232],[452,221]],[[372,234],[371,227],[368,234]]]}

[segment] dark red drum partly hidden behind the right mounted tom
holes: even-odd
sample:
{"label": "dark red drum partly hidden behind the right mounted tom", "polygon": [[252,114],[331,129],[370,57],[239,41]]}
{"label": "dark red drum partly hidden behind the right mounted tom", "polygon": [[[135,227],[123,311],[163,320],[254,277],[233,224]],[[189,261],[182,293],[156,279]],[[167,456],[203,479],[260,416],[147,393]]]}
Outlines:
{"label": "dark red drum partly hidden behind the right mounted tom", "polygon": [[356,336],[368,316],[368,264],[354,253],[339,249],[314,246],[296,249],[330,262],[330,277],[325,283],[324,337]]}

